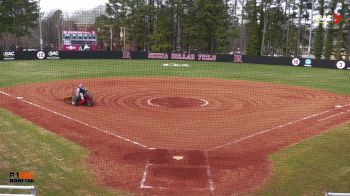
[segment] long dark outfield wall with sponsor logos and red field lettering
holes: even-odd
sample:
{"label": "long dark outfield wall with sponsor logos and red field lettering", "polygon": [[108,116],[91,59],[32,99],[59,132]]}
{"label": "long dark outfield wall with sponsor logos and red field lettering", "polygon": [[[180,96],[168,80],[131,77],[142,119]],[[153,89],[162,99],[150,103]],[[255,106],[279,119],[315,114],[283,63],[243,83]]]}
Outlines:
{"label": "long dark outfield wall with sponsor logos and red field lettering", "polygon": [[248,56],[230,54],[201,53],[152,53],[122,51],[0,51],[0,61],[11,60],[57,60],[57,59],[163,59],[186,61],[212,61],[232,63],[252,63],[286,65],[296,67],[319,67],[328,69],[350,70],[350,61],[317,60],[308,58]]}

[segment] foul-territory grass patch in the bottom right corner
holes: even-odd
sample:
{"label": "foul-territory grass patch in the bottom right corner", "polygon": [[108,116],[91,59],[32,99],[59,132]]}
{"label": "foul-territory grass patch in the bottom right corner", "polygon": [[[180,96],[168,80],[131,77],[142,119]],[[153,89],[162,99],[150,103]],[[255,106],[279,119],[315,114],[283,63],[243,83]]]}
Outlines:
{"label": "foul-territory grass patch in the bottom right corner", "polygon": [[283,149],[270,158],[274,175],[256,195],[350,192],[350,125]]}

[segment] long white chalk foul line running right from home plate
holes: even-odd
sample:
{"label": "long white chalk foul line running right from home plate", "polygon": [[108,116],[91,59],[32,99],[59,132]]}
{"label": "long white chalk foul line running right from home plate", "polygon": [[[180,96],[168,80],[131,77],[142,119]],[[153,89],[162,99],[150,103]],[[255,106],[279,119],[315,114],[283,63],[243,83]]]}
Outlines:
{"label": "long white chalk foul line running right from home plate", "polygon": [[225,143],[225,144],[222,144],[222,145],[219,145],[219,146],[210,148],[210,149],[208,149],[208,152],[209,152],[209,151],[212,151],[212,150],[217,150],[217,149],[220,149],[220,148],[223,148],[223,147],[226,147],[226,146],[230,146],[230,145],[232,145],[232,144],[239,143],[239,142],[241,142],[241,141],[244,141],[244,140],[253,138],[253,137],[255,137],[255,136],[258,136],[258,135],[261,135],[261,134],[264,134],[264,133],[268,133],[268,132],[274,131],[274,130],[279,129],[279,128],[282,128],[282,127],[286,127],[286,126],[288,126],[288,125],[292,125],[292,124],[298,123],[298,122],[300,122],[300,121],[304,121],[304,120],[307,120],[307,119],[310,119],[310,118],[319,116],[319,115],[321,115],[321,114],[325,114],[325,113],[328,113],[328,112],[331,112],[331,111],[334,111],[334,110],[338,110],[338,109],[341,109],[341,108],[346,107],[346,106],[349,106],[349,105],[350,105],[350,104],[346,104],[346,105],[343,105],[342,107],[336,107],[336,108],[331,109],[331,110],[323,111],[323,112],[320,112],[320,113],[317,113],[317,114],[313,114],[313,115],[310,115],[310,116],[306,116],[306,117],[301,118],[301,119],[299,119],[299,120],[291,121],[291,122],[288,122],[288,123],[285,123],[285,124],[282,124],[282,125],[279,125],[279,126],[270,128],[270,129],[266,129],[266,130],[264,130],[264,131],[261,131],[261,132],[258,132],[258,133],[254,133],[254,134],[248,135],[248,136],[243,137],[243,138],[241,138],[241,139],[233,140],[233,141],[227,142],[227,143]]}

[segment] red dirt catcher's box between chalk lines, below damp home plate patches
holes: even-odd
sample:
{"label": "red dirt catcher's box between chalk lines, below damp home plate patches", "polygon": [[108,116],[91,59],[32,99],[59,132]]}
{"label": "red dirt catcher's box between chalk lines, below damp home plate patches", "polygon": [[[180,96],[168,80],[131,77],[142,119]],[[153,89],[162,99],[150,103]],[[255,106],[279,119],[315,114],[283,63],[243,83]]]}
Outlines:
{"label": "red dirt catcher's box between chalk lines, below damp home plate patches", "polygon": [[172,167],[150,165],[145,187],[164,189],[208,189],[206,167]]}

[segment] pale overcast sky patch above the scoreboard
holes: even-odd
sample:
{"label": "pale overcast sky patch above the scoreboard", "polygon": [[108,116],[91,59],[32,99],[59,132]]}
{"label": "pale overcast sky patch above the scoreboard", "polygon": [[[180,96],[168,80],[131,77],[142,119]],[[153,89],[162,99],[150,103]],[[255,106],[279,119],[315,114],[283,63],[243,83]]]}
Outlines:
{"label": "pale overcast sky patch above the scoreboard", "polygon": [[88,10],[107,3],[108,0],[41,0],[41,12],[61,9],[63,13],[75,10]]}

